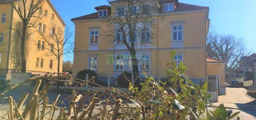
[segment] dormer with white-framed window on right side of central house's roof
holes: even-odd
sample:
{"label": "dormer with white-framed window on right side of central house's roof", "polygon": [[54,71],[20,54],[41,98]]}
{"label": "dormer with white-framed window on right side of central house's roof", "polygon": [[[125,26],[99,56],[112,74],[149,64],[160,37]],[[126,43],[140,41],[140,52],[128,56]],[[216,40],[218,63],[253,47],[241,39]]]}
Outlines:
{"label": "dormer with white-framed window on right side of central house's roof", "polygon": [[160,0],[162,7],[162,12],[172,12],[175,11],[177,6],[179,6],[178,0]]}

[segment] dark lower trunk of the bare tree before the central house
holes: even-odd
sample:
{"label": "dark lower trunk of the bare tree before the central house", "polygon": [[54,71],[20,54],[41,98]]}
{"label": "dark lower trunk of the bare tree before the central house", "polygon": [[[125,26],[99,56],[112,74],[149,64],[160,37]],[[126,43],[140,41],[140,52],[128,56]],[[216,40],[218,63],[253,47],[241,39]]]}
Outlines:
{"label": "dark lower trunk of the bare tree before the central house", "polygon": [[136,57],[136,51],[133,50],[133,51],[130,52],[130,54],[131,54],[131,57],[132,57],[133,74],[134,74],[134,80],[135,80],[134,85],[136,87],[138,87],[139,90],[141,90],[141,84],[140,84],[141,79],[139,79],[140,73],[139,73],[139,67],[138,67],[139,62],[138,62],[137,57]]}

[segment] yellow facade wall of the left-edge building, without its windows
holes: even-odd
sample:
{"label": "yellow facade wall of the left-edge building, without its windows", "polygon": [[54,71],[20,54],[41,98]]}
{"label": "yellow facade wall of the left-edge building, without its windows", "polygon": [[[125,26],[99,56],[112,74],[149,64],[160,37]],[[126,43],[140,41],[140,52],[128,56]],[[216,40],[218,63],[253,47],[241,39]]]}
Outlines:
{"label": "yellow facade wall of the left-edge building, without its windows", "polygon": [[[2,7],[2,6],[5,6],[5,7]],[[0,13],[5,12],[4,10],[11,11],[12,6],[10,4],[3,4],[3,5],[0,4]],[[44,17],[45,10],[48,11],[47,17]],[[52,14],[54,14],[54,20],[52,19]],[[39,15],[39,11],[36,13],[36,15]],[[17,22],[20,22],[20,18],[15,10],[13,10],[13,16],[11,16],[11,12],[8,12],[7,17],[8,17],[7,22],[10,22],[11,18],[13,19],[13,25]],[[49,54],[50,51],[48,51],[47,49],[45,49],[44,51],[37,49],[38,40],[41,40],[41,44],[42,44],[42,41],[44,41],[38,32],[38,30],[39,30],[38,24],[42,23],[42,28],[43,28],[43,25],[45,24],[46,25],[46,33],[45,34],[49,34],[49,33],[51,33],[51,26],[53,24],[55,24],[57,27],[60,27],[64,31],[65,23],[61,21],[62,19],[60,18],[60,16],[58,16],[58,13],[56,13],[56,11],[54,11],[54,7],[51,6],[51,3],[49,0],[45,0],[43,7],[42,7],[42,15],[40,15],[40,17],[42,17],[42,19],[36,19],[36,18],[31,19],[31,21],[36,21],[35,23],[36,23],[37,27],[36,28],[31,27],[30,29],[27,30],[29,33],[32,33],[32,34],[27,39],[27,52],[26,52],[27,53],[27,68],[26,68],[26,70],[27,70],[27,72],[32,72],[32,74],[45,74],[47,72],[57,72],[57,63],[58,63],[57,58],[52,56],[51,54]],[[1,25],[1,23],[0,23],[0,25]],[[0,27],[0,32],[1,32],[1,29],[2,29],[2,27]],[[6,32],[8,32],[8,30],[9,30],[7,28],[3,28],[3,29]],[[20,60],[14,61],[15,59],[12,56],[12,55],[14,55],[14,53],[17,52],[20,45],[15,44],[15,41],[17,41],[18,38],[17,38],[17,36],[15,36],[14,31],[12,31],[11,36],[12,36],[12,38],[11,38],[11,43],[10,43],[10,52],[9,52],[10,58],[9,58],[8,69],[20,69],[19,65],[18,65],[18,67],[17,67],[17,65],[16,66],[14,65],[15,63],[18,63],[17,61],[20,61]],[[9,35],[8,35],[8,37],[9,37]],[[7,39],[7,38],[5,38],[5,39]],[[54,47],[57,46],[56,43],[53,42],[53,44],[54,44]],[[50,46],[48,44],[45,44],[45,48],[50,48]],[[1,52],[1,50],[2,49],[0,49],[0,52]],[[43,68],[40,68],[40,66],[38,68],[36,67],[36,58],[37,57],[40,59],[41,58],[44,59]],[[7,56],[5,56],[5,58],[7,59]],[[54,60],[53,69],[49,68],[50,60]],[[0,64],[0,69],[1,69],[2,65],[7,66],[7,61],[5,61],[5,63]],[[5,69],[6,69],[6,67],[5,67]],[[60,63],[60,72],[62,72],[62,57],[61,57],[61,63]]]}

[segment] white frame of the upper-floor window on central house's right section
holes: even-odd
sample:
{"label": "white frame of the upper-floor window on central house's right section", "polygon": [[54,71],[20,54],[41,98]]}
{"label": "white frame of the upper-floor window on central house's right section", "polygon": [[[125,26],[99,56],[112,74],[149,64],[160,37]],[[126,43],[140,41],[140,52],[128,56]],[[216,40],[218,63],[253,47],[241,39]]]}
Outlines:
{"label": "white frame of the upper-floor window on central house's right section", "polygon": [[[178,27],[181,26],[182,30],[179,30]],[[184,22],[177,22],[177,23],[171,23],[171,30],[172,30],[172,38],[171,41],[184,41]],[[177,30],[174,30],[174,27],[177,27]],[[176,38],[177,40],[174,40],[174,32],[176,32]],[[182,39],[179,40],[179,32],[182,32]]]}

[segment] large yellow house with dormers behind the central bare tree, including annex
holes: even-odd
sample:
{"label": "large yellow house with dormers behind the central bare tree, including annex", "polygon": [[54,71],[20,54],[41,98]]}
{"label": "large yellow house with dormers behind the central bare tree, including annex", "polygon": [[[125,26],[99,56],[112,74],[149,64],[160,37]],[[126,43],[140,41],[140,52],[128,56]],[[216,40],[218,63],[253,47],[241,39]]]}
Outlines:
{"label": "large yellow house with dormers behind the central bare tree, including annex", "polygon": [[[210,77],[220,81],[219,85],[223,87],[224,62],[208,62],[210,58],[206,58],[209,7],[180,3],[178,0],[160,1],[161,12],[155,17],[154,26],[148,28],[148,32],[155,34],[149,40],[154,41],[154,44],[135,45],[140,72],[144,70],[155,78],[165,77],[165,70],[169,69],[166,63],[170,61],[171,51],[176,50],[175,61],[182,61],[188,67],[186,74],[190,79],[200,83]],[[109,29],[104,17],[114,15],[111,14],[111,6],[97,6],[95,9],[96,13],[72,19],[75,24],[73,75],[82,69],[95,70],[101,77],[107,77],[108,74],[116,77],[124,70],[131,71],[126,46],[110,42],[104,37],[104,31]]]}

